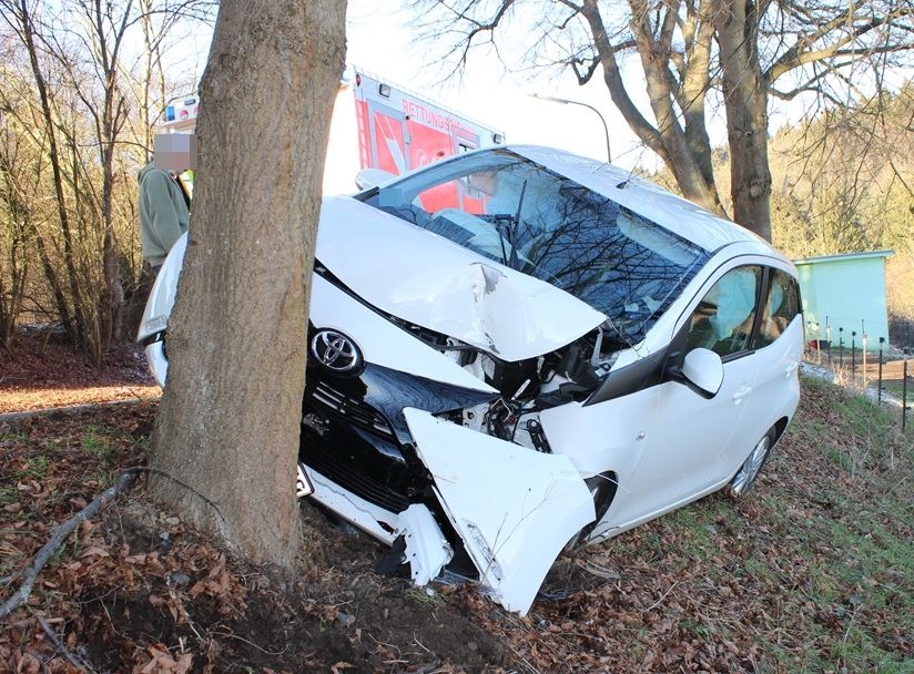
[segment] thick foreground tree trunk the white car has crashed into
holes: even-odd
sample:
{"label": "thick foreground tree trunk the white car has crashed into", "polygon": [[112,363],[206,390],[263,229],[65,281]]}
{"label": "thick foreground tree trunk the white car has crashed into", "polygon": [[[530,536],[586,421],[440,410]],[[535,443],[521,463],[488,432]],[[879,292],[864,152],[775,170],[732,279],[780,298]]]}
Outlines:
{"label": "thick foreground tree trunk the white car has crashed into", "polygon": [[255,562],[301,548],[307,299],[346,3],[223,0],[197,123],[191,239],[169,325],[151,489]]}

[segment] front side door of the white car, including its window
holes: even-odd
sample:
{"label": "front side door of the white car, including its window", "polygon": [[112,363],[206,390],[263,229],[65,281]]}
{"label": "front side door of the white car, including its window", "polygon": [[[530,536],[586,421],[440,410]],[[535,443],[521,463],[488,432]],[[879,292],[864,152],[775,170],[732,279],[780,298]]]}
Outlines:
{"label": "front side door of the white car, including its window", "polygon": [[[695,348],[717,353],[723,382],[705,397],[680,381],[659,386],[653,423],[631,483],[633,494],[613,508],[618,527],[658,517],[718,488],[729,476],[721,463],[742,415],[751,404],[756,378],[752,330],[762,294],[764,268],[740,265],[719,272],[678,324],[669,358],[681,362]],[[705,285],[705,288],[708,286]]]}

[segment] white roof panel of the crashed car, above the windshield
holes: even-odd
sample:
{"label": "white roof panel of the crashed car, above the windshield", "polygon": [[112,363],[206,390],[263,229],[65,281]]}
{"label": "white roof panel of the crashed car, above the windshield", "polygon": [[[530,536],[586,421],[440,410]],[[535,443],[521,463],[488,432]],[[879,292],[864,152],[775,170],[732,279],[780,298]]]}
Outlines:
{"label": "white roof panel of the crashed car, above the windshield", "polygon": [[758,253],[782,257],[771,244],[749,229],[667,192],[630,171],[551,147],[507,145],[505,149],[568,176],[705,251],[715,252],[723,246],[740,243],[749,244],[749,248]]}

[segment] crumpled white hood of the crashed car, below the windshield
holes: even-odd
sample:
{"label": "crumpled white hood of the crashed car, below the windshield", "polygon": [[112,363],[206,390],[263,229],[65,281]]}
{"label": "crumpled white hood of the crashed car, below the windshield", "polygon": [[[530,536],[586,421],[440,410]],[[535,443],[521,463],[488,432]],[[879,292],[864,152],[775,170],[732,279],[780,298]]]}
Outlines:
{"label": "crumpled white hood of the crashed car, below the windshield", "polygon": [[324,200],[317,258],[374,307],[507,361],[606,320],[560,288],[351,197]]}

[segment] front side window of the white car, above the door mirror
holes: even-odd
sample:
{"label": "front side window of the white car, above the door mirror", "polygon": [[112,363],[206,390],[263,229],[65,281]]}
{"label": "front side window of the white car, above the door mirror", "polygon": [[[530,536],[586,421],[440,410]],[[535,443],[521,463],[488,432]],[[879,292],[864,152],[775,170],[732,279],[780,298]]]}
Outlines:
{"label": "front side window of the white car, above the door mirror", "polygon": [[762,267],[738,267],[724,274],[692,314],[688,348],[711,349],[720,356],[749,349],[761,284]]}

